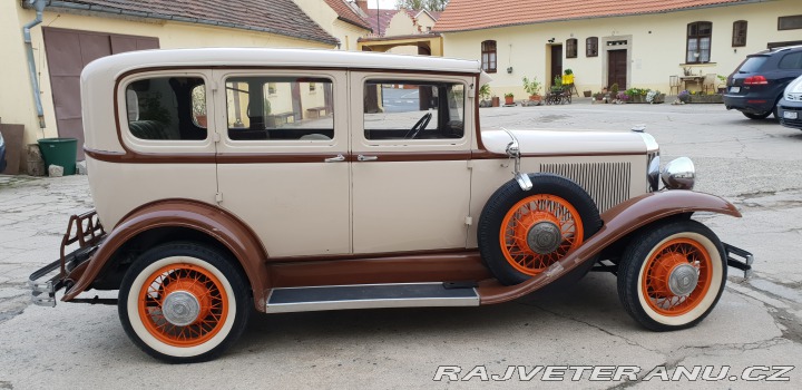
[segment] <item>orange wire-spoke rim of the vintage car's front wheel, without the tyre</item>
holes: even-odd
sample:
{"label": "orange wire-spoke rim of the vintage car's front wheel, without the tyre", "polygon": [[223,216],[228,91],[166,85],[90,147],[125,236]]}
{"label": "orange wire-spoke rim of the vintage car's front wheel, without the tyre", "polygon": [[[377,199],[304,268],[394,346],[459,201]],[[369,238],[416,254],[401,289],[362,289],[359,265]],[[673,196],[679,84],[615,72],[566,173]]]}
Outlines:
{"label": "orange wire-spoke rim of the vintage car's front wheel, without the tyre", "polygon": [[674,238],[653,252],[644,265],[640,289],[655,312],[676,316],[696,308],[713,279],[707,250],[689,238]]}

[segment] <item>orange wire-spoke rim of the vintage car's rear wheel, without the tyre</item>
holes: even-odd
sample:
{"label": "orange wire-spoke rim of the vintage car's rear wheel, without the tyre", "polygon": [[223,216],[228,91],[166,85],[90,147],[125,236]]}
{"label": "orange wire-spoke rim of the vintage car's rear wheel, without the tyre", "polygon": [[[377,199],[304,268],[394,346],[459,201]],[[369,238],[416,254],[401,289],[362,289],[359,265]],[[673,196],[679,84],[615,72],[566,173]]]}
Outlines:
{"label": "orange wire-spoke rim of the vintage car's rear wheel, without the tyre", "polygon": [[214,338],[228,315],[221,281],[192,264],[170,264],[147,277],[138,298],[145,329],[174,347],[200,345]]}

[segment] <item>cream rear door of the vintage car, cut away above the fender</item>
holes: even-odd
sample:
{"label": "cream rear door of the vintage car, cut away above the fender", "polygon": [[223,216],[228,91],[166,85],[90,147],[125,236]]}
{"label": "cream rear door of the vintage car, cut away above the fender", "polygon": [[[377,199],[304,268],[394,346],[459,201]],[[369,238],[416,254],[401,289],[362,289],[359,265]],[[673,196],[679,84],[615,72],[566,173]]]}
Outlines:
{"label": "cream rear door of the vintage car, cut away above the fender", "polygon": [[218,202],[271,257],[351,253],[345,71],[215,70]]}

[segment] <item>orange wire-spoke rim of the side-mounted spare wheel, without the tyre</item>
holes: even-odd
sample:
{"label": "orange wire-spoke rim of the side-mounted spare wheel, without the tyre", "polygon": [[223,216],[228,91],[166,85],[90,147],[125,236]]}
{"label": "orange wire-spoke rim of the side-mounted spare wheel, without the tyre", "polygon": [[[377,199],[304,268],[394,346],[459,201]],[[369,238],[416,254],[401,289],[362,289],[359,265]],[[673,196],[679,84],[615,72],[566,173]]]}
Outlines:
{"label": "orange wire-spoke rim of the side-mounted spare wheel, without the tyre", "polygon": [[547,194],[525,197],[501,222],[500,244],[507,262],[537,275],[583,243],[583,222],[566,199]]}

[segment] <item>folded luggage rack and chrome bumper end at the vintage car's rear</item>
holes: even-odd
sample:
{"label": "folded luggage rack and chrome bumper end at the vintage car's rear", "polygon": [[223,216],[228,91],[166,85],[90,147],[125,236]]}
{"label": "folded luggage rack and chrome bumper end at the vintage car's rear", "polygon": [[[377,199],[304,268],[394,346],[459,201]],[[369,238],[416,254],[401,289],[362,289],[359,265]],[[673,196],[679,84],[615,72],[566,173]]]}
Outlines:
{"label": "folded luggage rack and chrome bumper end at the vintage car's rear", "polygon": [[[69,272],[86,262],[105,236],[106,231],[96,211],[70,216],[67,233],[61,238],[60,257],[33,272],[28,280],[32,302],[40,306],[55,306],[56,292],[65,286]],[[75,243],[78,243],[78,250],[67,254],[67,247]],[[49,280],[39,281],[56,270],[59,272]]]}

